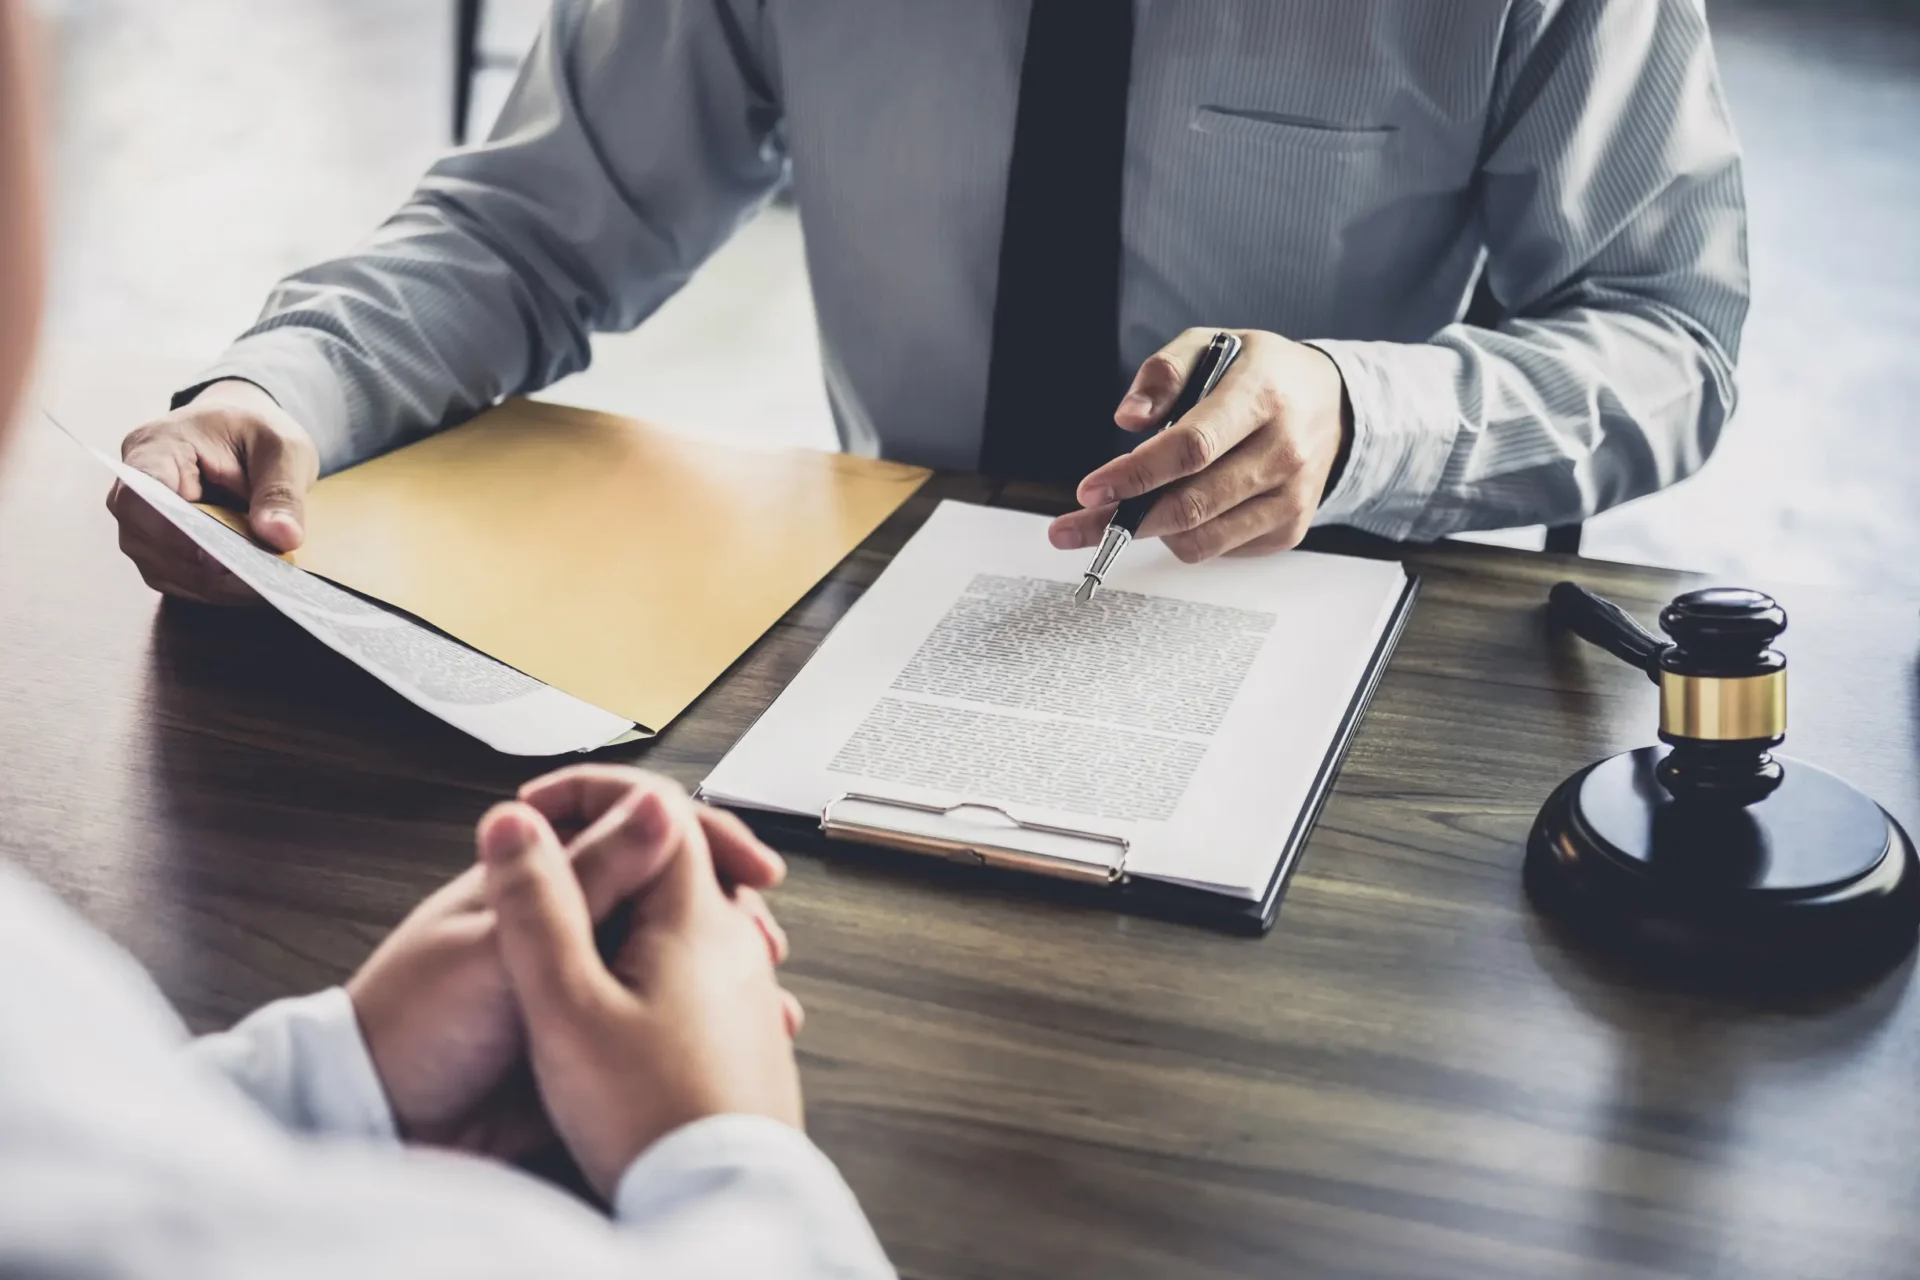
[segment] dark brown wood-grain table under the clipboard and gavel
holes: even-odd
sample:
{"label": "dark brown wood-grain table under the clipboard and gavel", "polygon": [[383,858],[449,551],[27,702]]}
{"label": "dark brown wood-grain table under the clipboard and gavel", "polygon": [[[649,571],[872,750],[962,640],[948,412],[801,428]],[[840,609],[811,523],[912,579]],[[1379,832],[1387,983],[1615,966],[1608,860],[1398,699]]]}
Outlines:
{"label": "dark brown wood-grain table under the clipboard and gavel", "polygon": [[[42,432],[12,462],[0,850],[200,1027],[340,981],[530,766],[278,616],[159,606],[90,462]],[[929,505],[624,758],[699,781]],[[1663,990],[1521,896],[1534,808],[1649,741],[1655,708],[1644,676],[1546,635],[1546,587],[1572,574],[1649,616],[1697,580],[1486,547],[1411,564],[1413,622],[1263,940],[795,862],[776,906],[812,1132],[902,1272],[1920,1268],[1907,967],[1784,1006]],[[1789,750],[1920,831],[1920,612],[1784,603]]]}

